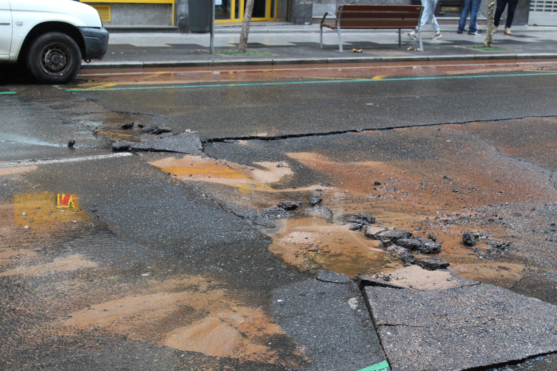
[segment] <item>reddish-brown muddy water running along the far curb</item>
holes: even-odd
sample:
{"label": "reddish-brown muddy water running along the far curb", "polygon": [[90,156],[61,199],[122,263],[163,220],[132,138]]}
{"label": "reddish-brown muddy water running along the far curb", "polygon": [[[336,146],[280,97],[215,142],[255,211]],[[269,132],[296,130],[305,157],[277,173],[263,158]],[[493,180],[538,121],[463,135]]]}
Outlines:
{"label": "reddish-brown muddy water running along the far curb", "polygon": [[336,63],[326,65],[130,68],[82,70],[85,80],[72,88],[95,90],[121,85],[161,85],[208,81],[257,81],[290,78],[383,78],[386,76],[455,75],[462,73],[532,71],[557,67],[555,60]]}

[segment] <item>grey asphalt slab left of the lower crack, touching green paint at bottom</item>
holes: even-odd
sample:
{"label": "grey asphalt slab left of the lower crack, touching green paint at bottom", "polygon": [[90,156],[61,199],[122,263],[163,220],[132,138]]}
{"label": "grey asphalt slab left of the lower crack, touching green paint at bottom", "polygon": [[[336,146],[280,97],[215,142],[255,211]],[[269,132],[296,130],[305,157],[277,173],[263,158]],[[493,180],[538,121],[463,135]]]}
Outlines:
{"label": "grey asphalt slab left of the lower crack, touching green paint at bottom", "polygon": [[273,291],[272,314],[311,360],[306,371],[388,371],[356,284],[307,279]]}

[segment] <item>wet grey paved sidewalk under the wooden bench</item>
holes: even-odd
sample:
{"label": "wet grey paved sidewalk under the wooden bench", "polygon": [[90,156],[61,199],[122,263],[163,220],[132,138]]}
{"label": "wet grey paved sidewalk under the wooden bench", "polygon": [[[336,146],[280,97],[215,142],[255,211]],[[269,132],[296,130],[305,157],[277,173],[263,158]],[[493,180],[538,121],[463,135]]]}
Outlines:
{"label": "wet grey paved sidewalk under the wooden bench", "polygon": [[[255,23],[248,39],[251,55],[224,55],[223,51],[237,49],[240,29],[240,24],[216,27],[213,55],[209,53],[209,33],[114,32],[110,34],[109,51],[104,59],[84,63],[82,68],[557,58],[557,27],[512,27],[512,36],[496,33],[494,48],[482,51],[470,47],[482,46],[485,35],[457,34],[456,25],[442,24],[443,36],[429,39],[433,32],[426,24],[423,52],[408,50],[419,47],[418,41],[406,34],[410,30],[403,30],[400,48],[396,30],[346,30],[342,31],[344,53],[341,54],[336,32],[329,29],[324,30],[324,48],[320,49],[319,24]],[[354,53],[354,48],[362,52]]]}

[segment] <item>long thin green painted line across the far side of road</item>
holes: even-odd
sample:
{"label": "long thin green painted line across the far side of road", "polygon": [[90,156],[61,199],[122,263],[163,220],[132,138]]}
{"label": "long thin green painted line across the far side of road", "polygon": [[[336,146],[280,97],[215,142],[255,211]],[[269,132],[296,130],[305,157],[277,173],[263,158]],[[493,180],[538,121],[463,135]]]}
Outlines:
{"label": "long thin green painted line across the far side of road", "polygon": [[[95,89],[94,91],[118,91],[118,90],[153,90],[153,89],[185,89],[203,87],[233,87],[233,86],[265,86],[265,85],[296,85],[296,84],[322,84],[336,82],[382,82],[382,81],[411,81],[411,80],[446,80],[458,78],[487,78],[487,77],[520,77],[520,76],[545,76],[557,75],[557,72],[538,72],[538,73],[509,73],[507,75],[472,75],[472,76],[431,76],[431,77],[399,77],[383,78],[383,80],[313,80],[313,81],[289,81],[289,82],[252,82],[252,83],[233,83],[233,84],[205,84],[205,85],[166,85],[166,86],[130,86],[130,87],[108,87]],[[80,88],[64,89],[70,92],[89,91]]]}

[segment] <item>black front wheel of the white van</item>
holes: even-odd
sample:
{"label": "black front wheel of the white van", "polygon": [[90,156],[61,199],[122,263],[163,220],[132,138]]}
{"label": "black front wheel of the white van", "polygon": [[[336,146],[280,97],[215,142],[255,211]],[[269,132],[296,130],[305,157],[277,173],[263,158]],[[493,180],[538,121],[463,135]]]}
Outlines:
{"label": "black front wheel of the white van", "polygon": [[70,82],[80,67],[79,46],[65,33],[44,33],[32,42],[27,52],[27,68],[42,83]]}

